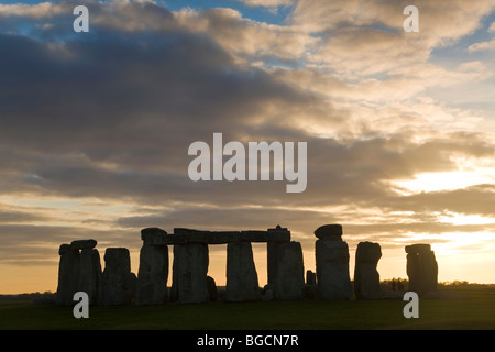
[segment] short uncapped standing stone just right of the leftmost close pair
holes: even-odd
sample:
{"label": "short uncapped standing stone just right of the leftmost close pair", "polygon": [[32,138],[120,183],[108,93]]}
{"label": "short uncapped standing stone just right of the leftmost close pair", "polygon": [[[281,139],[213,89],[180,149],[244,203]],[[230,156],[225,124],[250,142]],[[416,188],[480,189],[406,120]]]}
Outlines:
{"label": "short uncapped standing stone just right of the leftmost close pair", "polygon": [[105,271],[101,275],[100,301],[103,306],[129,305],[135,297],[134,273],[128,249],[109,248],[105,252]]}

